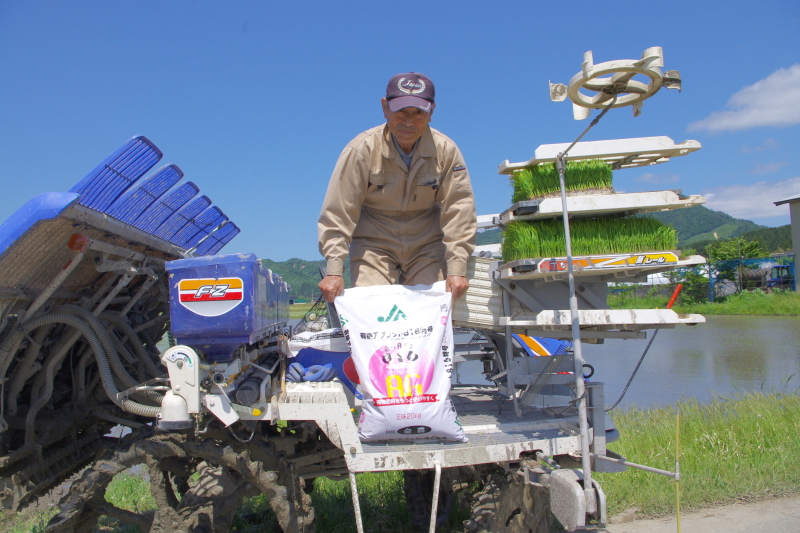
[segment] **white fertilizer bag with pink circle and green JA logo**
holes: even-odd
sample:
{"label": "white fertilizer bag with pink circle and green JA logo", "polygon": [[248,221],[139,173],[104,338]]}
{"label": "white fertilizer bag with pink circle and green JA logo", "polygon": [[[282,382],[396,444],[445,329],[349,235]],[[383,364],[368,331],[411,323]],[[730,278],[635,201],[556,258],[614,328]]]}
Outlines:
{"label": "white fertilizer bag with pink circle and green JA logo", "polygon": [[467,441],[449,397],[451,304],[443,281],[358,287],[336,298],[364,395],[362,441]]}

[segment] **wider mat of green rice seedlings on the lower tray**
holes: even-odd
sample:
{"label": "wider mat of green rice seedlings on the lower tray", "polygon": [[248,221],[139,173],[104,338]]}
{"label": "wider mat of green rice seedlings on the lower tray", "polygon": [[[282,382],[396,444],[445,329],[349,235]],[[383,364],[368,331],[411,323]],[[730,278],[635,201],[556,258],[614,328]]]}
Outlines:
{"label": "wider mat of green rice seedlings on the lower tray", "polygon": [[[672,250],[675,230],[650,217],[579,218],[570,221],[572,253],[598,255]],[[567,253],[564,226],[559,219],[509,224],[503,241],[503,259],[563,257]]]}

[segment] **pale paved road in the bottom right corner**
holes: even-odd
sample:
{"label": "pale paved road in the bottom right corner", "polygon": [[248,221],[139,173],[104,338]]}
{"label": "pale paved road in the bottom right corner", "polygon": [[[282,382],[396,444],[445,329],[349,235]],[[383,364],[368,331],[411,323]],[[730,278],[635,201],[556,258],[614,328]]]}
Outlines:
{"label": "pale paved road in the bottom right corner", "polygon": [[[674,516],[612,524],[595,533],[675,533]],[[712,507],[681,515],[681,533],[798,533],[800,496]]]}

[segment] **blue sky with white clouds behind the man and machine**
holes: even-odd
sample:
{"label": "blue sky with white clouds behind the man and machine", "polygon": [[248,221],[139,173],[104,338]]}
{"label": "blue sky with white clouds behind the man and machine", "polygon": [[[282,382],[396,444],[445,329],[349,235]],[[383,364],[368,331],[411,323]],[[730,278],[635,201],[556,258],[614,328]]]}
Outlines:
{"label": "blue sky with white clouds behind the man and machine", "polygon": [[617,190],[683,189],[756,223],[800,193],[800,3],[0,1],[0,220],[66,191],[142,134],[242,233],[223,252],[317,259],[344,145],[383,122],[389,78],[436,84],[431,125],[466,158],[479,214],[510,204],[505,159],[571,142],[553,103],[583,53],[664,49],[683,92],[613,110],[585,140],[666,135],[703,149],[615,172]]}

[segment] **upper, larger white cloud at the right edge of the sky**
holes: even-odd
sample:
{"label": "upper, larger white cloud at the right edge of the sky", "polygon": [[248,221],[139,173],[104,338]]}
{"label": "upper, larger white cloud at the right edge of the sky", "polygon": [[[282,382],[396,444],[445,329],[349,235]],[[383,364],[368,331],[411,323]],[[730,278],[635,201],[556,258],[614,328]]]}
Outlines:
{"label": "upper, larger white cloud at the right edge of the sky", "polygon": [[689,124],[689,131],[735,131],[800,124],[800,63],[778,69],[736,92],[728,111],[715,111]]}

